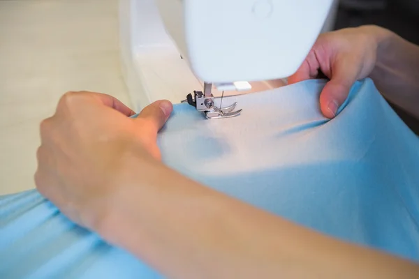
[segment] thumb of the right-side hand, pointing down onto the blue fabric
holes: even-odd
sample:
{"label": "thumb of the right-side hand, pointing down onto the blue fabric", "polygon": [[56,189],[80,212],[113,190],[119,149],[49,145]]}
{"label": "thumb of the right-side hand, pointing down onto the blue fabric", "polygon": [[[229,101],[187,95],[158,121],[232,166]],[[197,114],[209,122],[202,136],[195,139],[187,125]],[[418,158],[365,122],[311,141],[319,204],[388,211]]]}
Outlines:
{"label": "thumb of the right-side hand, pointing down onto the blue fabric", "polygon": [[350,66],[355,63],[348,62],[337,65],[337,68],[334,69],[334,75],[325,85],[320,95],[321,112],[330,119],[336,116],[339,107],[348,98],[349,91],[358,76],[357,68]]}

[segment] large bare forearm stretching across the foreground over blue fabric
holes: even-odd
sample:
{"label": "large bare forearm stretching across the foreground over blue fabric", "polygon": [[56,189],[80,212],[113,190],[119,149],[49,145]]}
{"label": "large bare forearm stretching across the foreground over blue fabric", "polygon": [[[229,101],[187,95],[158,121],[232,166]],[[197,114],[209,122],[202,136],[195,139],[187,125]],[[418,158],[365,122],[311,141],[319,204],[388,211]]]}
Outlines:
{"label": "large bare forearm stretching across the foreground over blue fabric", "polygon": [[409,262],[304,229],[165,167],[142,173],[138,181],[149,185],[120,193],[98,232],[170,278],[419,275]]}

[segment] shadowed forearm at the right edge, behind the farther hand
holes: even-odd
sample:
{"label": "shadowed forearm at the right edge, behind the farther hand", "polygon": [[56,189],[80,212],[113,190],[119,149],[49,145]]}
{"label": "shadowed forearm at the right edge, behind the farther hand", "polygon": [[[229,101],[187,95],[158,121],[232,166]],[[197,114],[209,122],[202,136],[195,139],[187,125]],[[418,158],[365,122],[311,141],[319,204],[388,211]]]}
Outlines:
{"label": "shadowed forearm at the right edge, behind the farther hand", "polygon": [[377,28],[377,61],[371,77],[385,98],[419,119],[419,46]]}

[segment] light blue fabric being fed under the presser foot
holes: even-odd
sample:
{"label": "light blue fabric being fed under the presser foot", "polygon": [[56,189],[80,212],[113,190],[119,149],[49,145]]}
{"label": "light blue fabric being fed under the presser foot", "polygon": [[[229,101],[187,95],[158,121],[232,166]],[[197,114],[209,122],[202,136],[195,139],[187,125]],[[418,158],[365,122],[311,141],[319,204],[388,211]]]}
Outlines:
{"label": "light blue fabric being fed under the presser foot", "polygon": [[[371,80],[357,82],[339,115],[325,119],[324,84],[224,98],[243,108],[232,119],[175,105],[159,134],[163,160],[279,216],[419,261],[418,137]],[[0,229],[0,278],[159,278],[34,190],[1,197]]]}

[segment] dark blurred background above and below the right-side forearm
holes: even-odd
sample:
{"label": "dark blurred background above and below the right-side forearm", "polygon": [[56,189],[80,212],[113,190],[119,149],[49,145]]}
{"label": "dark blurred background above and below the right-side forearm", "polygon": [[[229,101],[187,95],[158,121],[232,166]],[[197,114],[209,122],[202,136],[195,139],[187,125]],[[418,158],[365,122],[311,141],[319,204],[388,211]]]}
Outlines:
{"label": "dark blurred background above and below the right-side forearm", "polygon": [[[419,45],[419,0],[340,0],[335,29],[364,24],[385,27]],[[419,135],[419,120],[392,107]]]}

